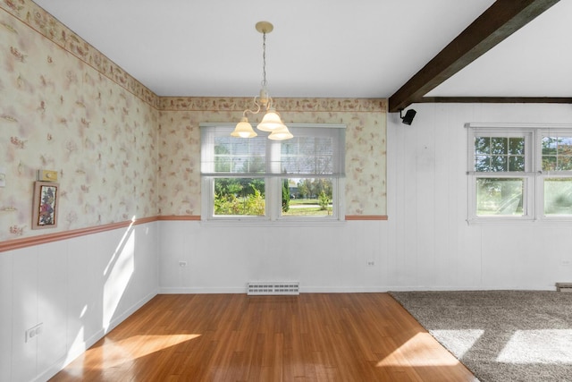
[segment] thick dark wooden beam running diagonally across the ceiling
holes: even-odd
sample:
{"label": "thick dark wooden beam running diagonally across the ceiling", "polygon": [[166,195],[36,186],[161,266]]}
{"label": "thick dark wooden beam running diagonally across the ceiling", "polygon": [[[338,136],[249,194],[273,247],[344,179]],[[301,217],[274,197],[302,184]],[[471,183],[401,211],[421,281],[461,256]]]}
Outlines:
{"label": "thick dark wooden beam running diagonally across the ceiling", "polygon": [[389,98],[390,113],[421,102],[429,91],[558,2],[497,0]]}

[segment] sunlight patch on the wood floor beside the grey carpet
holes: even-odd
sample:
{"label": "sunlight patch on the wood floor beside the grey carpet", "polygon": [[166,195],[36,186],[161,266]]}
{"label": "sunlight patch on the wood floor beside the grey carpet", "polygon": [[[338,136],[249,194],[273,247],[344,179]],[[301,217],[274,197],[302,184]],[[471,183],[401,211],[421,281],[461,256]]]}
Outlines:
{"label": "sunlight patch on the wood floor beside the grey carpet", "polygon": [[[427,344],[431,342],[434,345],[428,346]],[[401,367],[404,364],[404,360],[410,366],[458,365],[458,360],[452,354],[449,354],[446,360],[443,361],[443,355],[440,351],[442,351],[441,344],[438,344],[429,333],[417,333],[382,361],[377,362],[376,366],[378,368]]]}

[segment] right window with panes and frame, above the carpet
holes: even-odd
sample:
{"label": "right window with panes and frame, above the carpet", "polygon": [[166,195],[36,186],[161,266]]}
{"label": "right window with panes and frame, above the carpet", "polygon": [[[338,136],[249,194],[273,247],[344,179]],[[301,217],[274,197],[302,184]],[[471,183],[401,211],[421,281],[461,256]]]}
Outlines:
{"label": "right window with panes and frame, above the carpet", "polygon": [[572,219],[572,128],[468,127],[469,220]]}

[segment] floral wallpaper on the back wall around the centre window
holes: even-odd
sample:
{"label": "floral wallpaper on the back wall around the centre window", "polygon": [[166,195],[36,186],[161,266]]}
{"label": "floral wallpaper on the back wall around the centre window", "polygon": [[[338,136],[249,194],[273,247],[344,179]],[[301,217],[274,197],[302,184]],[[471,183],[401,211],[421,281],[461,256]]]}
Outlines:
{"label": "floral wallpaper on the back wall around the centre window", "polygon": [[[160,98],[161,215],[200,215],[198,124],[238,122],[250,102]],[[274,104],[284,123],[346,124],[346,215],[386,215],[386,99],[276,98]]]}

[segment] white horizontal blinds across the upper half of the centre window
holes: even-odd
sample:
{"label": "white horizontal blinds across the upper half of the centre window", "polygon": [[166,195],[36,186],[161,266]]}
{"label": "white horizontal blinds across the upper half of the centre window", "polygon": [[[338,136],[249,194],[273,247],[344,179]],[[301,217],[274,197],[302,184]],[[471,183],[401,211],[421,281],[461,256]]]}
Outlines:
{"label": "white horizontal blinds across the upper half of the centre window", "polygon": [[290,140],[231,137],[232,126],[201,126],[201,173],[206,176],[268,177],[285,174],[305,177],[344,176],[345,129],[296,127]]}

